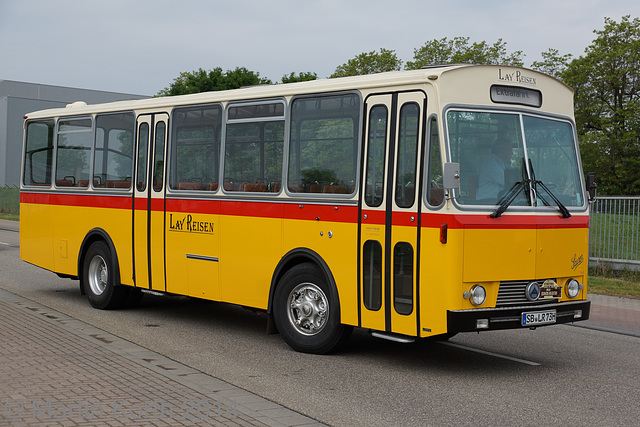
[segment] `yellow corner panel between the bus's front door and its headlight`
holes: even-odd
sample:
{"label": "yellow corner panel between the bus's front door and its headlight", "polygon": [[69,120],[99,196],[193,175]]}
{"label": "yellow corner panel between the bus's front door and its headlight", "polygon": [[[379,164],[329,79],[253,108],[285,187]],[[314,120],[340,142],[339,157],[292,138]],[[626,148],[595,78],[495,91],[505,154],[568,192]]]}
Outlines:
{"label": "yellow corner panel between the bus's front door and its headlight", "polygon": [[449,228],[447,243],[440,243],[440,228],[422,228],[420,240],[421,337],[446,333],[447,310],[461,308],[464,292],[461,262],[463,236],[462,229]]}

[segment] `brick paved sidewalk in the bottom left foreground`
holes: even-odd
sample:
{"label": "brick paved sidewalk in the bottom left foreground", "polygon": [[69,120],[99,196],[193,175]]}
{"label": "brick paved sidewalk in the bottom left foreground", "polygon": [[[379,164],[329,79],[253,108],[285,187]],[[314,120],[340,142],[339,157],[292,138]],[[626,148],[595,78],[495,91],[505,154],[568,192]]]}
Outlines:
{"label": "brick paved sidewalk in the bottom left foreground", "polygon": [[321,425],[0,289],[0,425]]}

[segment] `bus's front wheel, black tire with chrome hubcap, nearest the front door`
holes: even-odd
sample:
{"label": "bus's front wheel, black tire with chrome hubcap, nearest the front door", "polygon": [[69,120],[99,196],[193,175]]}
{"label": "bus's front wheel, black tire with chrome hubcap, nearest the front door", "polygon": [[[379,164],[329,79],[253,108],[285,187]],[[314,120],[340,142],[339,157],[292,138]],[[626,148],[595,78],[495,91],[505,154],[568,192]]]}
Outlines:
{"label": "bus's front wheel, black tire with chrome hubcap, nearest the front door", "polygon": [[273,317],[284,341],[303,353],[335,351],[353,330],[340,324],[337,292],[318,267],[309,263],[282,276],[274,295]]}

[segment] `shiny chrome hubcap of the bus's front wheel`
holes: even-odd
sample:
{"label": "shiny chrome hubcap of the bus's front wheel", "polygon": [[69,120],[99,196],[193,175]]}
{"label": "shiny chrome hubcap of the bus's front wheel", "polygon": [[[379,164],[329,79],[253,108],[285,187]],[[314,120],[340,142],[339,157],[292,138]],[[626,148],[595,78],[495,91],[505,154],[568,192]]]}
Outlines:
{"label": "shiny chrome hubcap of the bus's front wheel", "polygon": [[329,300],[318,286],[301,283],[289,294],[287,301],[289,322],[303,335],[322,331],[329,315]]}

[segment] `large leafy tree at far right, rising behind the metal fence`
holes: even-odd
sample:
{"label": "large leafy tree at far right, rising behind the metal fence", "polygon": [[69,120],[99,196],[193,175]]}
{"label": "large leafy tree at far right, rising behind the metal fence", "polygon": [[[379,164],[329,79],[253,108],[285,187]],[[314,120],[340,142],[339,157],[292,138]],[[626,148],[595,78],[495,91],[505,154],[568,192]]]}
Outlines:
{"label": "large leafy tree at far right, rising behind the metal fence", "polygon": [[640,193],[640,19],[605,18],[602,30],[560,73],[575,90],[575,115],[585,172],[601,194]]}

